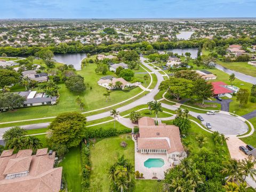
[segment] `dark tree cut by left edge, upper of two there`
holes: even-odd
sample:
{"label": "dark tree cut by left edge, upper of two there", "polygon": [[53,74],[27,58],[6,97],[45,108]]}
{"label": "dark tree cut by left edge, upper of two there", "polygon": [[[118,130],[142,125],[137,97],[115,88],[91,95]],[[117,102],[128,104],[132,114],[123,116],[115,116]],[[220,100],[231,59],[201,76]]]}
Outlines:
{"label": "dark tree cut by left edge, upper of two there", "polygon": [[0,69],[0,87],[11,86],[20,81],[20,74],[10,69]]}

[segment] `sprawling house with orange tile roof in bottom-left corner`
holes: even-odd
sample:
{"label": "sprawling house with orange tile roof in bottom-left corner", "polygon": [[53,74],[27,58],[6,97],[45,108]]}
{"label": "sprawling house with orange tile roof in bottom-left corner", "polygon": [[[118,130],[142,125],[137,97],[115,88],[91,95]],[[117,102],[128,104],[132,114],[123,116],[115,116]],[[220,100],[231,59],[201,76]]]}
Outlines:
{"label": "sprawling house with orange tile roof in bottom-left corner", "polygon": [[0,191],[58,192],[61,186],[62,167],[54,168],[55,152],[47,148],[38,149],[32,155],[31,149],[4,150],[0,156]]}

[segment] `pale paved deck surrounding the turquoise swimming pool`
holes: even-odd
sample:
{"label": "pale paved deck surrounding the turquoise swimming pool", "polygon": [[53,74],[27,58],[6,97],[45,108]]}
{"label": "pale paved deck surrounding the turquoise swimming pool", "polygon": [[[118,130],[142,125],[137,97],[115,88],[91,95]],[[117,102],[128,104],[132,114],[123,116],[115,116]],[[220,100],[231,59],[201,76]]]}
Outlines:
{"label": "pale paved deck surrounding the turquoise swimming pool", "polygon": [[[156,173],[157,179],[164,179],[164,172],[167,169],[171,168],[171,163],[168,162],[166,154],[141,154],[136,150],[136,145],[134,145],[134,153],[135,153],[135,171],[139,171],[143,173],[143,177],[145,179],[152,179],[153,173]],[[144,166],[144,162],[149,158],[162,158],[164,159],[164,166],[162,167],[152,167],[147,168]]]}

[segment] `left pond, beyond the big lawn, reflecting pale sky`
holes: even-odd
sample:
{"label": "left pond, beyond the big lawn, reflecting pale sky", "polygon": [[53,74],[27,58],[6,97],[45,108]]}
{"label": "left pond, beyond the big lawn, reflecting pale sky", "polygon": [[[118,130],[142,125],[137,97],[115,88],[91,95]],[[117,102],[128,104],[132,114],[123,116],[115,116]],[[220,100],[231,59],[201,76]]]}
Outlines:
{"label": "left pond, beyond the big lawn, reflecting pale sky", "polygon": [[67,65],[74,65],[76,70],[81,70],[81,61],[86,58],[86,53],[72,53],[72,54],[56,54],[53,59],[55,61]]}

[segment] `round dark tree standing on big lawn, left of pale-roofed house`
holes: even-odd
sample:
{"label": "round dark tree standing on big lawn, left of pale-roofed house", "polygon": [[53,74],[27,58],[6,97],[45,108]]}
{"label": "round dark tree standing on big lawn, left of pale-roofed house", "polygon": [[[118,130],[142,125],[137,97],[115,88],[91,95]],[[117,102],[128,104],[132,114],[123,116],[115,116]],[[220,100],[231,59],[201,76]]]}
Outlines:
{"label": "round dark tree standing on big lawn, left of pale-roofed house", "polygon": [[66,87],[73,92],[81,93],[86,90],[84,78],[80,75],[73,75],[68,77],[65,81]]}

